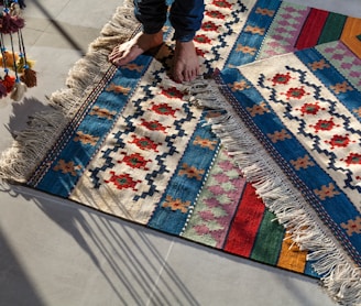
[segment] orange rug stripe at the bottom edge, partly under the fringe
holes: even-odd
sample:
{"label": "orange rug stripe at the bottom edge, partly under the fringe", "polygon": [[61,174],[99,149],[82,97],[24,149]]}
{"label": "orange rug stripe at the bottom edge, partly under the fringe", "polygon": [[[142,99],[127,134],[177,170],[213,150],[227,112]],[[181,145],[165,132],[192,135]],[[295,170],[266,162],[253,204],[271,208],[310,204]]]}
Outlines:
{"label": "orange rug stripe at the bottom edge, partly under the fringe", "polygon": [[307,251],[299,251],[299,248],[296,244],[292,245],[292,243],[293,240],[289,238],[289,234],[286,233],[282,243],[277,266],[304,273]]}

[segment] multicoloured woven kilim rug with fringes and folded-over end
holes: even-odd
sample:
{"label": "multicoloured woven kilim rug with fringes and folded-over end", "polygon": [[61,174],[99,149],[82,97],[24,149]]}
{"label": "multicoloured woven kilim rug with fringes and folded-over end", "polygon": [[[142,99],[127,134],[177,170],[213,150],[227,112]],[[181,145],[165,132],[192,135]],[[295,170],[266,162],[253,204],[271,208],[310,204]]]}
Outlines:
{"label": "multicoloured woven kilim rug with fringes and folded-over end", "polygon": [[208,77],[176,84],[168,24],[156,54],[108,63],[140,31],[125,3],[54,109],[2,153],[0,175],[360,303],[360,24],[274,0],[208,0],[195,37]]}

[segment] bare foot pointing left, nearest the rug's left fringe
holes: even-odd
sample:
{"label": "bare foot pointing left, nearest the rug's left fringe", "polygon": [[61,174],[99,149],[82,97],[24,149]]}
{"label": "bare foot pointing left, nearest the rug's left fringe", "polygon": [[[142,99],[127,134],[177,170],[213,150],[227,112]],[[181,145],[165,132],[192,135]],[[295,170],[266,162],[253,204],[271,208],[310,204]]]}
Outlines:
{"label": "bare foot pointing left, nearest the rug's left fringe", "polygon": [[109,55],[109,61],[116,66],[123,66],[134,61],[139,55],[163,43],[163,32],[155,34],[136,34],[132,40],[120,44],[113,48]]}

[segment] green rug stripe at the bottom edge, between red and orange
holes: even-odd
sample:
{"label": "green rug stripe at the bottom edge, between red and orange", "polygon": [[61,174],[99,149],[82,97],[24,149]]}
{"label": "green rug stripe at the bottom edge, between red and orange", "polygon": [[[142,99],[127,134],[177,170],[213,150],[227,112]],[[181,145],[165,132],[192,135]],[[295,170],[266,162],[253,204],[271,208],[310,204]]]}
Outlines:
{"label": "green rug stripe at the bottom edge, between red and orange", "polygon": [[250,256],[252,260],[272,265],[277,263],[285,230],[275,218],[272,212],[265,210]]}

